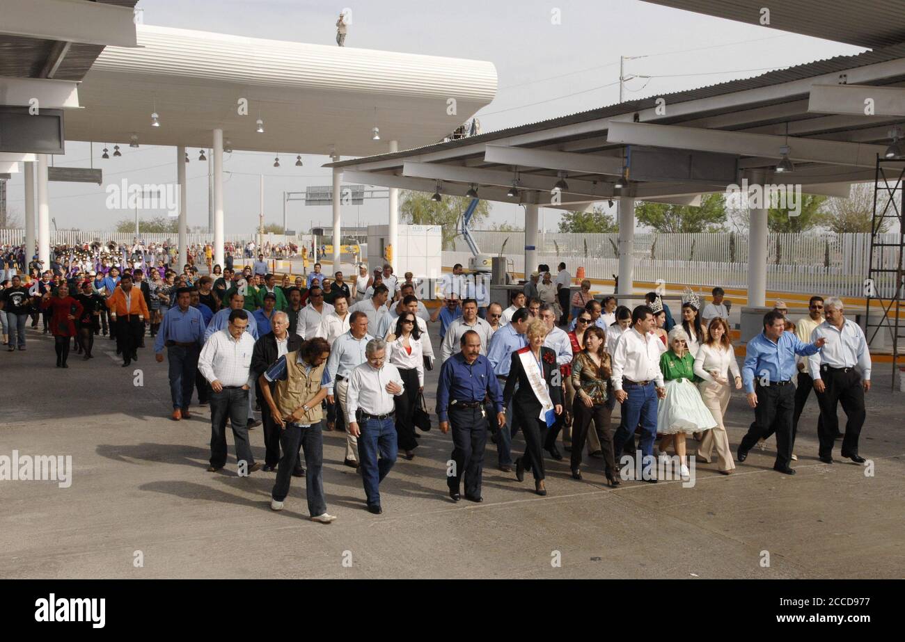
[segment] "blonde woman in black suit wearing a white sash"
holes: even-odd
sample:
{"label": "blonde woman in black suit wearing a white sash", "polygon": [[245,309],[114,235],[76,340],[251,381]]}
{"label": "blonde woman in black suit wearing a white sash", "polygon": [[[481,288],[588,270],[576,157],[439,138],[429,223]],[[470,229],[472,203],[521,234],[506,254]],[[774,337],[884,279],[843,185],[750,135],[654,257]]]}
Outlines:
{"label": "blonde woman in black suit wearing a white sash", "polygon": [[535,319],[525,334],[529,345],[512,353],[503,405],[513,404],[513,422],[525,433],[525,454],[515,461],[516,477],[522,481],[529,468],[534,474],[534,491],[543,496],[547,495],[543,446],[548,426],[563,411],[562,382],[556,352],[544,347],[547,325]]}

